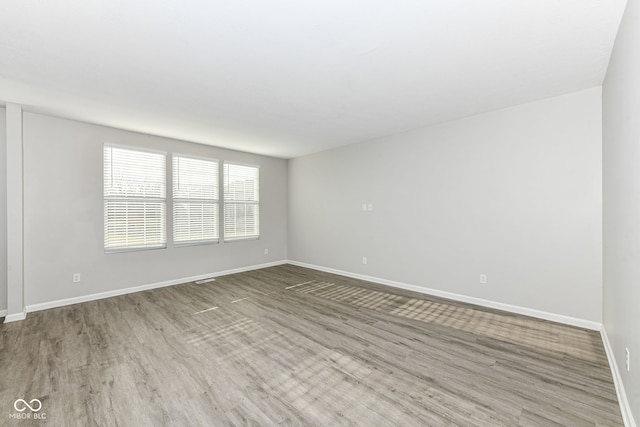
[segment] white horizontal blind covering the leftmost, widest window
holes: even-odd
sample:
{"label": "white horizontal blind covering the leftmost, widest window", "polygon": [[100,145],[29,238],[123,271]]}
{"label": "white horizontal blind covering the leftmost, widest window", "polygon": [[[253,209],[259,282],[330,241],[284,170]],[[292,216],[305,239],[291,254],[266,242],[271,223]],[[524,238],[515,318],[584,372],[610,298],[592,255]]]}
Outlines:
{"label": "white horizontal blind covering the leftmost, widest window", "polygon": [[105,249],[166,245],[165,154],[105,145]]}

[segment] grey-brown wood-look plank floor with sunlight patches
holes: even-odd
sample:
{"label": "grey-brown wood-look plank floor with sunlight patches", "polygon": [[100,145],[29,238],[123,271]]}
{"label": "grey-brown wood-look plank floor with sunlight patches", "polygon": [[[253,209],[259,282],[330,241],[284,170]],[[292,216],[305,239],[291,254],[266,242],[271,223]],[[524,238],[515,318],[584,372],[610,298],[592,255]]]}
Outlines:
{"label": "grey-brown wood-look plank floor with sunlight patches", "polygon": [[291,265],[0,338],[0,425],[622,425],[597,332]]}

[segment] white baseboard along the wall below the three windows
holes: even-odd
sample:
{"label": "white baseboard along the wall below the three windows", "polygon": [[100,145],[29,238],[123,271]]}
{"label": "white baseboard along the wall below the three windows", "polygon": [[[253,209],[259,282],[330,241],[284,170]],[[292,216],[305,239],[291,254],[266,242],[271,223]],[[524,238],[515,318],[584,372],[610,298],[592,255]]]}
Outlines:
{"label": "white baseboard along the wall below the three windows", "polygon": [[[65,298],[65,299],[60,299],[60,300],[56,300],[56,301],[49,301],[49,302],[43,302],[43,303],[39,303],[39,304],[32,304],[32,305],[28,305],[26,307],[26,313],[31,313],[31,312],[40,311],[40,310],[47,310],[47,309],[56,308],[56,307],[63,307],[65,305],[78,304],[78,303],[81,303],[81,302],[95,301],[95,300],[99,300],[99,299],[103,299],[103,298],[115,297],[115,296],[118,296],[118,295],[132,294],[132,293],[135,293],[135,292],[146,291],[146,290],[149,290],[149,289],[163,288],[165,286],[179,285],[181,283],[195,282],[197,280],[208,279],[210,277],[219,277],[219,276],[226,276],[226,275],[229,275],[229,274],[243,273],[245,271],[258,270],[258,269],[267,268],[267,267],[274,267],[276,265],[282,265],[282,264],[286,264],[286,263],[287,263],[286,261],[276,261],[276,262],[271,262],[271,263],[266,263],[266,264],[259,264],[259,265],[252,265],[252,266],[247,266],[247,267],[234,268],[232,270],[218,271],[218,272],[215,272],[215,273],[201,274],[199,276],[184,277],[184,278],[180,278],[180,279],[168,280],[168,281],[165,281],[165,282],[151,283],[151,284],[147,284],[147,285],[134,286],[134,287],[123,288],[123,289],[116,289],[116,290],[113,290],[113,291],[100,292],[100,293],[97,293],[97,294],[82,295],[82,296],[79,296],[79,297]],[[24,319],[24,317],[22,319],[15,319],[15,320],[23,320],[23,319]],[[6,321],[7,320],[5,319],[5,322]]]}

